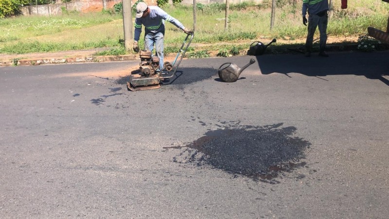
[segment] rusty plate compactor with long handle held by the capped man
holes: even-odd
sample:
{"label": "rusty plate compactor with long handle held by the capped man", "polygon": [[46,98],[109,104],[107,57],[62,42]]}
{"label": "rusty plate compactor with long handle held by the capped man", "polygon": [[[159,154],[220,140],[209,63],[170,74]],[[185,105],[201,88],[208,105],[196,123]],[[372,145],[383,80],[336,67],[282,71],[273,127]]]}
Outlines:
{"label": "rusty plate compactor with long handle held by the capped man", "polygon": [[159,57],[153,56],[150,50],[139,51],[139,56],[141,58],[139,71],[135,74],[131,74],[129,81],[127,82],[127,89],[130,91],[144,91],[160,88],[163,80],[171,78],[176,74],[179,63],[181,63],[193,37],[193,33],[188,34],[185,37],[173,63],[164,62],[163,69],[161,70],[158,70]]}

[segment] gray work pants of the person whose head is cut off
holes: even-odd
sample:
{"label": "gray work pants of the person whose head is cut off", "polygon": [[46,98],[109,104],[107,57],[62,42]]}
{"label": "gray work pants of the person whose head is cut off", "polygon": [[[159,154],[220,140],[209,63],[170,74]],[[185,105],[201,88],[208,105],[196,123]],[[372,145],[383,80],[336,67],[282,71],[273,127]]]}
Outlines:
{"label": "gray work pants of the person whose head is cut off", "polygon": [[305,48],[307,52],[312,52],[313,36],[316,31],[316,27],[319,27],[320,33],[320,44],[319,52],[325,51],[325,45],[327,43],[327,24],[328,24],[328,14],[319,17],[317,15],[309,15],[308,17],[308,35],[305,42]]}

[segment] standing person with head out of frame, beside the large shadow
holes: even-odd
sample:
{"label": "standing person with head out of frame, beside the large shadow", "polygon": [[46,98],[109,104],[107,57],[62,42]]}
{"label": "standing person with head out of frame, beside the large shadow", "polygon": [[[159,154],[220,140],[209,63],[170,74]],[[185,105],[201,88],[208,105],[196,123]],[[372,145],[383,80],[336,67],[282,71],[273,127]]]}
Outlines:
{"label": "standing person with head out of frame, beside the large shadow", "polygon": [[[327,23],[328,23],[328,0],[302,0],[302,23],[306,26],[308,22],[308,35],[305,42],[305,56],[311,56],[313,36],[316,27],[319,27],[320,43],[319,55],[328,57],[325,53],[325,45],[327,42]],[[308,10],[308,20],[305,18]]]}

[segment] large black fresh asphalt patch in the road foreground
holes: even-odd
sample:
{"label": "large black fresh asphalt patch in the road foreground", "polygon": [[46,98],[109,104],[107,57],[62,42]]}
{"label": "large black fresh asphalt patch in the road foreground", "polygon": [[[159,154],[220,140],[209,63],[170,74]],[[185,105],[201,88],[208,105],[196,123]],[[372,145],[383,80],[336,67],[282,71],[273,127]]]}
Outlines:
{"label": "large black fresh asphalt patch in the road foreground", "polygon": [[293,136],[295,127],[280,128],[282,125],[210,130],[189,145],[170,147],[184,149],[173,161],[221,169],[234,177],[242,175],[255,181],[280,183],[276,179],[280,174],[306,165],[300,160],[311,145]]}

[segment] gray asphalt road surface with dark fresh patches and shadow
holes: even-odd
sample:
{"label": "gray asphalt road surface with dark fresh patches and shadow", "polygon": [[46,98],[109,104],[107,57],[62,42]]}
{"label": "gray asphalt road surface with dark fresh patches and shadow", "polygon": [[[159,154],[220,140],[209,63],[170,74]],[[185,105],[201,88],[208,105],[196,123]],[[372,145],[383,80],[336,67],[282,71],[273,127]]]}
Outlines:
{"label": "gray asphalt road surface with dark fresh patches and shadow", "polygon": [[387,218],[388,56],[2,67],[1,218]]}

